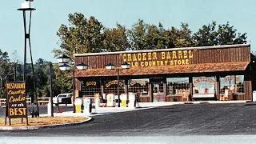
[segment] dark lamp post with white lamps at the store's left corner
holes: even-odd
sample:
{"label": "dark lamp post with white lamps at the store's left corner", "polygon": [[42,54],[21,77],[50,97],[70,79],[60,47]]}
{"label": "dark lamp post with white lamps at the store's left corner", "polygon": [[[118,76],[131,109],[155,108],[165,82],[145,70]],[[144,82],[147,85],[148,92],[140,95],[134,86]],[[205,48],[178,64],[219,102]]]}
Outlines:
{"label": "dark lamp post with white lamps at the store's left corner", "polygon": [[[63,54],[62,56],[58,57],[58,62],[62,64],[62,66],[59,66],[59,69],[62,71],[70,70],[71,66],[69,66],[67,63],[70,62],[70,57]],[[77,66],[78,70],[86,70],[88,66],[84,63],[80,63]],[[73,112],[75,113],[75,105],[74,105],[74,90],[75,90],[75,83],[74,83],[74,68],[73,68]]]}

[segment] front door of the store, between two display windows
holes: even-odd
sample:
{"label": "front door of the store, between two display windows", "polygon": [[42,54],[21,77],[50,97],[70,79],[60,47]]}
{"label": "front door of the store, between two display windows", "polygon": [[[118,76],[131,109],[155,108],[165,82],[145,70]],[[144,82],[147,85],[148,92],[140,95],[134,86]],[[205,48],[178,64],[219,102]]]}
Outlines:
{"label": "front door of the store, between two display windows", "polygon": [[165,102],[163,83],[152,83],[153,102]]}

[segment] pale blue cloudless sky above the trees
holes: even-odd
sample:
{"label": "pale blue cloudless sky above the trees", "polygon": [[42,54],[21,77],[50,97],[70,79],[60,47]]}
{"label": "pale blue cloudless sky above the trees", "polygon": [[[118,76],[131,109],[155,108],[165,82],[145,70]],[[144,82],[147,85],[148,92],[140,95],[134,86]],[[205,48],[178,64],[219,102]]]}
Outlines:
{"label": "pale blue cloudless sky above the trees", "polygon": [[[0,9],[0,49],[7,51],[11,60],[12,53],[18,52],[23,62],[24,30],[21,7],[24,0],[5,0]],[[230,22],[240,33],[247,33],[251,39],[251,51],[256,51],[255,0],[34,0],[35,10],[31,23],[31,46],[33,60],[38,58],[57,62],[51,50],[58,49],[58,31],[61,24],[68,24],[67,15],[74,12],[94,16],[103,26],[114,27],[120,23],[130,28],[141,18],[146,23],[161,22],[165,28],[179,28],[187,22],[190,30],[198,31],[203,25],[213,21],[217,24]],[[27,52],[30,56],[29,51]],[[28,57],[27,62],[30,62]]]}

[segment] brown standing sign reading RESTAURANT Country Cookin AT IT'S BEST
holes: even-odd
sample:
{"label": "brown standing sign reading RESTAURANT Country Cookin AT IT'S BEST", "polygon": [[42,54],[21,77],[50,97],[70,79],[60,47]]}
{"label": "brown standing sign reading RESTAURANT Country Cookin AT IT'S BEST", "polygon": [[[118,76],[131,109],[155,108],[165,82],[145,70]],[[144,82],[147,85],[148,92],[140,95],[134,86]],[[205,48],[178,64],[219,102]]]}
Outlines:
{"label": "brown standing sign reading RESTAURANT Country Cookin AT IT'S BEST", "polygon": [[9,123],[10,118],[26,118],[28,124],[25,87],[25,82],[6,83],[6,117]]}

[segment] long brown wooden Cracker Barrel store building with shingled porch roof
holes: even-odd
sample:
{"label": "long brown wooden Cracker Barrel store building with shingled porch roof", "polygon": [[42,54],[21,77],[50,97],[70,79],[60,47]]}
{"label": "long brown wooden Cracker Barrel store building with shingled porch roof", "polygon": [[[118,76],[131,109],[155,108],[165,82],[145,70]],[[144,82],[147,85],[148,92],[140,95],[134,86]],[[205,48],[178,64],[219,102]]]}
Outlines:
{"label": "long brown wooden Cracker Barrel store building with shingled porch roof", "polygon": [[[94,94],[139,95],[140,102],[251,100],[250,45],[203,46],[74,54],[76,90]],[[129,63],[130,69],[107,70]]]}

